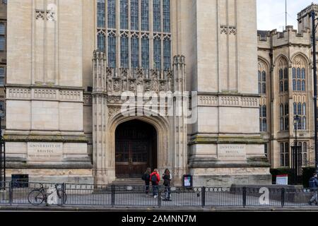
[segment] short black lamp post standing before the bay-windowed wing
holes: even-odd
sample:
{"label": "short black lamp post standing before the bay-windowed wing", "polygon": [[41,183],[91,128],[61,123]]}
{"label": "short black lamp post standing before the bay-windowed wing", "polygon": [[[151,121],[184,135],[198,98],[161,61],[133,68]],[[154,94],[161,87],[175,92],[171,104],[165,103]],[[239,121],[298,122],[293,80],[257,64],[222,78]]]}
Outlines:
{"label": "short black lamp post standing before the bay-windowed wing", "polygon": [[296,115],[294,117],[294,127],[295,127],[295,142],[292,146],[292,169],[294,169],[294,184],[298,184],[300,176],[301,176],[301,169],[302,169],[302,153],[301,147],[298,145],[297,141],[297,129],[299,125],[300,117]]}

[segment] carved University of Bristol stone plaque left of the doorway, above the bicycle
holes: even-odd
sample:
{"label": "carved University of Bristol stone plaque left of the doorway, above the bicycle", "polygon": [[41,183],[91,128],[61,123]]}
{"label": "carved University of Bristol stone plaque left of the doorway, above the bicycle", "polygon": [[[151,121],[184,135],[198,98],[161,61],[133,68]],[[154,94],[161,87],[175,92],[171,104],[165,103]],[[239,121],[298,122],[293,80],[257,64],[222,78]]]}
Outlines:
{"label": "carved University of Bristol stone plaque left of the doorway, above the bicycle", "polygon": [[28,161],[59,162],[63,160],[63,143],[28,143]]}

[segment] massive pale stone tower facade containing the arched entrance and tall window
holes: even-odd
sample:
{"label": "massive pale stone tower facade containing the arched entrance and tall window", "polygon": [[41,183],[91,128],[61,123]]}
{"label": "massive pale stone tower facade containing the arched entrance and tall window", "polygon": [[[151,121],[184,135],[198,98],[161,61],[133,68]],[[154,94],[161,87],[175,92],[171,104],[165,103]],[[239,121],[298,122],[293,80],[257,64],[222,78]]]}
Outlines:
{"label": "massive pale stone tower facade containing the arched entrance and tall window", "polygon": [[110,184],[151,167],[177,185],[184,174],[194,186],[270,183],[256,7],[9,1],[8,176]]}

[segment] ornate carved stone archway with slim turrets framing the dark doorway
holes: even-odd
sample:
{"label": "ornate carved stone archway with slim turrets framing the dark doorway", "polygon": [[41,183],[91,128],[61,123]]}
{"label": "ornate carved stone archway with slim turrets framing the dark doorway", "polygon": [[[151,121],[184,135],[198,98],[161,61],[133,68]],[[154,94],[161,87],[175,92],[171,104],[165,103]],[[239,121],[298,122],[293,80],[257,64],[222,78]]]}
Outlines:
{"label": "ornate carved stone archway with slim turrets framing the dark doorway", "polygon": [[[173,108],[181,116],[161,116],[151,111],[144,102],[137,102],[125,115],[122,94],[129,90],[138,97],[139,88],[155,93],[185,91],[185,64],[183,56],[174,59],[173,71],[107,68],[105,54],[94,52],[93,57],[93,165],[95,184],[110,184],[116,179],[115,174],[115,131],[119,124],[134,119],[144,121],[155,127],[158,136],[158,169],[171,169],[175,184],[181,185],[182,175],[187,173],[187,124],[184,102],[177,105],[172,102],[159,102],[160,109]],[[130,85],[128,85],[128,83]],[[158,88],[160,84],[160,88]],[[179,102],[178,102],[179,104]],[[143,114],[135,114],[136,112]],[[141,116],[139,116],[141,115]],[[149,115],[153,115],[149,117]]]}

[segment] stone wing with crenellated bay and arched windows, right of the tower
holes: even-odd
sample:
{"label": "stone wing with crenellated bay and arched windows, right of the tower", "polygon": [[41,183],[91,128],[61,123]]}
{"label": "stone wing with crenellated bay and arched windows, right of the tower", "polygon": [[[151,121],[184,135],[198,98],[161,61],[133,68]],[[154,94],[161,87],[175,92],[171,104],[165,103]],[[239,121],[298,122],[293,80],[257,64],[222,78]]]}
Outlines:
{"label": "stone wing with crenellated bay and arched windows, right of the tower", "polygon": [[302,165],[314,166],[312,10],[298,13],[298,30],[258,32],[259,122],[273,168],[291,167],[296,129]]}

